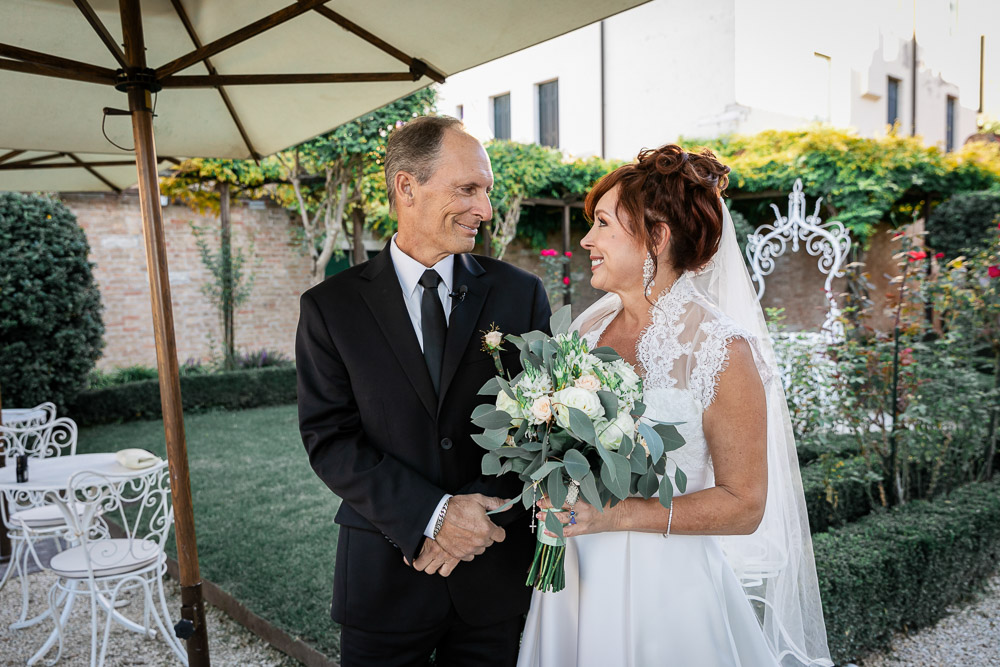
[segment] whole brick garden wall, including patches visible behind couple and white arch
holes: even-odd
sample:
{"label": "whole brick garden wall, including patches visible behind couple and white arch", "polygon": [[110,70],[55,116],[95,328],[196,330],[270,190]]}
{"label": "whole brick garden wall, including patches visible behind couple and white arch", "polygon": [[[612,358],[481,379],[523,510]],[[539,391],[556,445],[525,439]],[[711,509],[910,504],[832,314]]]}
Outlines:
{"label": "whole brick garden wall, including patches visible behind couple and white arch", "polygon": [[[94,276],[104,304],[105,351],[100,368],[131,364],[156,365],[152,316],[149,303],[149,279],[142,239],[142,221],[138,197],[124,195],[65,195],[63,201],[76,214],[87,233]],[[259,204],[257,205],[259,206]],[[190,223],[199,227],[218,227],[218,219],[199,215],[183,205],[163,209],[167,240],[170,289],[177,334],[177,356],[207,360],[221,347],[222,328],[217,312],[201,287],[210,278],[202,266]],[[232,206],[232,238],[235,246],[246,246],[248,232],[253,234],[257,279],[250,300],[235,317],[236,346],[240,350],[267,348],[292,357],[295,326],[298,321],[298,297],[311,285],[309,259],[293,241],[294,221],[284,210],[266,205],[251,208],[245,203]],[[600,297],[590,287],[590,259],[580,248],[582,230],[574,230],[571,271],[574,281],[573,314],[579,315]],[[876,303],[884,304],[888,291],[887,274],[895,273],[894,247],[880,228],[871,247],[862,254],[867,270],[876,284]],[[559,234],[548,239],[549,247],[562,249]],[[381,243],[376,244],[381,246]],[[507,261],[538,275],[542,273],[538,252],[518,240],[511,244]],[[843,289],[843,281],[834,281],[834,290]],[[815,329],[825,317],[823,275],[816,268],[816,258],[788,253],[781,257],[767,278],[765,307],[785,309],[785,323],[792,329]],[[879,327],[889,326],[891,315],[878,318]]]}

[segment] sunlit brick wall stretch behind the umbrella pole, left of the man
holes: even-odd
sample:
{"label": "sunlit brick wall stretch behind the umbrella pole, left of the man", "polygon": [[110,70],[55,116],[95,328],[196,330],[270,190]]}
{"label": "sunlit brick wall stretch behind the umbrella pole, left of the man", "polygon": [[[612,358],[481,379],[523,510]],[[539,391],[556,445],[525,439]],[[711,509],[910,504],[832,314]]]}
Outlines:
{"label": "sunlit brick wall stretch behind the umbrella pole, left of the man", "polygon": [[[131,364],[156,365],[149,278],[142,238],[138,196],[65,195],[65,204],[77,216],[90,242],[94,277],[104,305],[105,350],[99,368]],[[221,348],[218,312],[201,287],[210,280],[201,263],[190,223],[218,229],[218,218],[199,215],[183,205],[163,209],[177,356],[206,360]],[[232,206],[233,246],[245,247],[248,233],[255,238],[259,264],[249,301],[235,315],[236,347],[267,348],[292,356],[298,296],[310,285],[309,265],[293,242],[289,215],[275,206]],[[214,243],[208,237],[210,244]]]}

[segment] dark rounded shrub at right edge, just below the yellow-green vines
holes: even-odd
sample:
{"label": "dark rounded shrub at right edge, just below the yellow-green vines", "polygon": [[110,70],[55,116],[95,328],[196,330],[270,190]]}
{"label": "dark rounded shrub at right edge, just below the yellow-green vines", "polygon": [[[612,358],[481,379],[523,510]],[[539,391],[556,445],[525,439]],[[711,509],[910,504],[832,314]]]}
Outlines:
{"label": "dark rounded shrub at right edge, just below the yellow-green vines", "polygon": [[927,220],[928,243],[952,259],[978,248],[1000,222],[1000,190],[957,194]]}

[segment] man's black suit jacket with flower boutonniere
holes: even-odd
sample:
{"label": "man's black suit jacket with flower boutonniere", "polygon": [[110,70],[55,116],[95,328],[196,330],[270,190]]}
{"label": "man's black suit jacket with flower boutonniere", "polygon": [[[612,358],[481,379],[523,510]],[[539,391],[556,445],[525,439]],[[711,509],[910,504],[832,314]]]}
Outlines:
{"label": "man's black suit jacket with flower boutonniere", "polygon": [[[302,295],[299,428],[313,470],[343,500],[331,612],[338,623],[410,632],[434,627],[452,605],[471,625],[527,611],[533,536],[520,504],[493,516],[506,540],[450,577],[403,563],[420,552],[444,493],[512,498],[521,490],[513,475],[482,476],[485,450],[470,437],[473,409],[493,400],[477,395],[495,374],[481,332],[492,323],[505,334],[548,329],[548,299],[536,276],[486,257],[456,255],[453,288],[462,285],[438,399],[389,246]],[[507,347],[504,367],[516,373],[517,350]]]}

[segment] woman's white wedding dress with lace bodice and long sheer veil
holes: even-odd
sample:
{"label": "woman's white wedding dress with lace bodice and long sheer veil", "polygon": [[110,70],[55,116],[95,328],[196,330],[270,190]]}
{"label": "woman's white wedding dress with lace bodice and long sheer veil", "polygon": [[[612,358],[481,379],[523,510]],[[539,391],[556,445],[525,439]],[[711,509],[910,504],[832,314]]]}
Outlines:
{"label": "woman's white wedding dress with lace bodice and long sheer veil", "polygon": [[[728,211],[725,217],[720,255],[742,265],[738,254],[733,260],[739,251],[729,247],[736,245],[735,232]],[[730,277],[737,270],[745,275],[745,268],[734,267]],[[767,361],[766,329],[754,335],[729,310],[718,310],[715,303],[729,305],[728,298],[707,296],[720,277],[730,279],[713,275],[720,268],[726,267],[714,263],[708,273],[685,273],[658,298],[637,345],[637,370],[645,376],[646,416],[684,422],[677,429],[685,444],[669,456],[687,474],[691,494],[715,483],[702,415],[715,398],[730,345],[737,338],[750,343],[768,396],[768,507],[761,527],[747,537],[609,532],[570,538],[566,588],[534,592],[518,667],[832,665],[794,440],[785,439],[790,424],[780,381],[772,382],[768,370],[774,365]],[[752,305],[759,313],[755,299]],[[608,294],[573,326],[593,348],[620,310],[621,300]],[[746,312],[752,317],[744,320],[757,321],[752,309]],[[667,473],[674,470],[668,464]]]}

